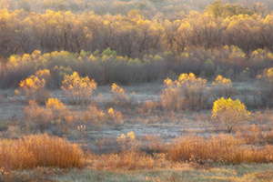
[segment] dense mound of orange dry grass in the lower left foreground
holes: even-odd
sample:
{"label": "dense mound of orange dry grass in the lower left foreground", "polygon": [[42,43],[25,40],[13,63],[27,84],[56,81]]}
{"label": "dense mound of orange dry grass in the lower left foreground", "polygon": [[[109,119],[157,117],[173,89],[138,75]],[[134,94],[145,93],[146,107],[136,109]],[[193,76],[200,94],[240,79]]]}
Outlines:
{"label": "dense mound of orange dry grass in the lower left foreground", "polygon": [[84,153],[76,144],[47,134],[0,141],[0,168],[83,167]]}

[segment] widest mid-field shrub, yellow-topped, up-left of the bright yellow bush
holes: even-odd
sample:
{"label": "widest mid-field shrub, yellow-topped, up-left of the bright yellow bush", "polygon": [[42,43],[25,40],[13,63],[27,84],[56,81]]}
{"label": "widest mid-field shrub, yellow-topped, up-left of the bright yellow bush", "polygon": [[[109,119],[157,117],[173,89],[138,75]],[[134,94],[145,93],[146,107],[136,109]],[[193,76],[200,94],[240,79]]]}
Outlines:
{"label": "widest mid-field shrub, yellow-topped, up-left of the bright yellow bush", "polygon": [[161,104],[167,109],[197,109],[205,105],[204,90],[207,80],[194,74],[181,74],[178,80],[164,81],[166,87],[161,94]]}

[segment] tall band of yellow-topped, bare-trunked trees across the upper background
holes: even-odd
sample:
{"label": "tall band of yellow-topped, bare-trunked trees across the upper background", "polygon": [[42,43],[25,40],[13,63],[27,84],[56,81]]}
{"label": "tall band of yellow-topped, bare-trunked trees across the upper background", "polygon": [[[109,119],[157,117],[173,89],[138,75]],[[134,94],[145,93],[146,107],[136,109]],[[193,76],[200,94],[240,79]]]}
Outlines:
{"label": "tall band of yellow-topped, bare-trunked trees across the upper background", "polygon": [[119,56],[142,57],[159,52],[180,55],[197,47],[213,49],[236,45],[249,54],[258,48],[273,49],[273,15],[239,5],[215,2],[204,13],[191,11],[172,19],[145,17],[139,10],[127,15],[74,14],[46,10],[0,10],[0,56],[109,47]]}

